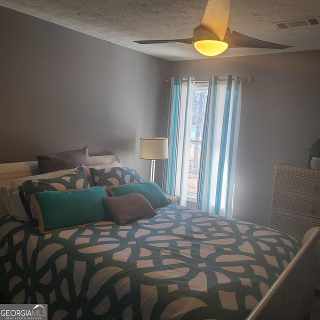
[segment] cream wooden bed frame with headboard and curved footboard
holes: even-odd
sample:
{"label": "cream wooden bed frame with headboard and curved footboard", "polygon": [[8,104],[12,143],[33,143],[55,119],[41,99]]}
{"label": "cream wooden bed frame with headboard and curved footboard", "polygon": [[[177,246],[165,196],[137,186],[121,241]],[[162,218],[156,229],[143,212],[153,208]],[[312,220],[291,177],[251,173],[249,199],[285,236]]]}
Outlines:
{"label": "cream wooden bed frame with headboard and curved footboard", "polygon": [[[90,156],[89,165],[121,160],[117,154]],[[38,174],[37,161],[0,163],[0,186],[18,177]],[[7,214],[0,199],[0,216]],[[308,230],[302,247],[248,315],[247,320],[306,320],[310,318],[312,297],[320,282],[320,265],[315,244],[320,227]]]}

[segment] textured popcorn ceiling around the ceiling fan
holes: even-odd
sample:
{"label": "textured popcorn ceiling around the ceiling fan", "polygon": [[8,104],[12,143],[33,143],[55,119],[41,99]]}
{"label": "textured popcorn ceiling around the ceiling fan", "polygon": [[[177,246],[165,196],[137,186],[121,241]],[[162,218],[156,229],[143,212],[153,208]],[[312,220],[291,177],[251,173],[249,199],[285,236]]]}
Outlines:
{"label": "textured popcorn ceiling around the ceiling fan", "polygon": [[[166,60],[206,58],[192,44],[133,42],[191,37],[206,0],[0,0],[0,5]],[[274,24],[319,16],[320,0],[232,0],[231,31],[293,47],[228,48],[218,57],[320,49],[320,24],[285,29]]]}

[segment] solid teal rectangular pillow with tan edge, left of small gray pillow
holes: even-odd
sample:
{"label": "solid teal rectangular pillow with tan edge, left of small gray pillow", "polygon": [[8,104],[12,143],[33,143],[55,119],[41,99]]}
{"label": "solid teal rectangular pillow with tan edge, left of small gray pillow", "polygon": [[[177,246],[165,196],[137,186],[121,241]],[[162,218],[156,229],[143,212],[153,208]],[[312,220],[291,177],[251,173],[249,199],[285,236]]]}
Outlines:
{"label": "solid teal rectangular pillow with tan edge, left of small gray pillow", "polygon": [[37,211],[40,233],[69,228],[104,219],[101,186],[87,189],[37,192],[30,196]]}

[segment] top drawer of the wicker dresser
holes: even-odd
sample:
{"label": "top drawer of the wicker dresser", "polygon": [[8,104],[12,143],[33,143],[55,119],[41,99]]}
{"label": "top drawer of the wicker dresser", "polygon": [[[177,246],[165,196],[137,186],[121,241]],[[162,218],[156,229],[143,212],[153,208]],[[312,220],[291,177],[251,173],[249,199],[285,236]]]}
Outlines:
{"label": "top drawer of the wicker dresser", "polygon": [[320,179],[280,173],[279,189],[320,196]]}

